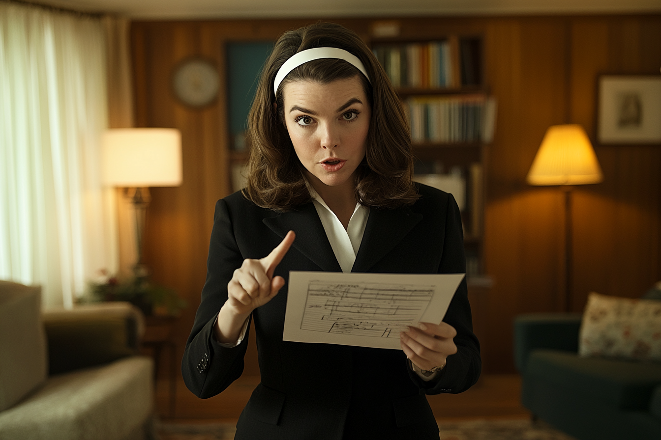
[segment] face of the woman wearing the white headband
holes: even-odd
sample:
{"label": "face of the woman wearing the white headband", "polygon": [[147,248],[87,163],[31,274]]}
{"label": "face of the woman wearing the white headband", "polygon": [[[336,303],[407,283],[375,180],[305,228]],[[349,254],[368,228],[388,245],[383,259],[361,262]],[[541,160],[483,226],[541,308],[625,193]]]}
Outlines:
{"label": "face of the woman wearing the white headband", "polygon": [[288,82],[283,97],[287,131],[313,187],[353,186],[371,116],[360,78]]}

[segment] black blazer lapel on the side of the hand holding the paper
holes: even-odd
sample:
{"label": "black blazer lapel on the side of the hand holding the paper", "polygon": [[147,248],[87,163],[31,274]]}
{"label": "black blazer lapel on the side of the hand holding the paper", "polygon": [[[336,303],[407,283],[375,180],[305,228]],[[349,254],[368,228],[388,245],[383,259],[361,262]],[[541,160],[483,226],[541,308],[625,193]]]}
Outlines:
{"label": "black blazer lapel on the side of the hand holding the paper", "polygon": [[422,220],[422,214],[408,208],[370,209],[365,234],[352,272],[367,272],[385,257]]}

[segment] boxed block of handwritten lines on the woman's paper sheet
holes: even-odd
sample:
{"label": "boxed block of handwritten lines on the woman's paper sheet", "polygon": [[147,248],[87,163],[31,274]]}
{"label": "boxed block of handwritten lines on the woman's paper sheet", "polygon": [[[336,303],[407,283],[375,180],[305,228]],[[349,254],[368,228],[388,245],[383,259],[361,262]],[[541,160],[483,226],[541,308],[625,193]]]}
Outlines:
{"label": "boxed block of handwritten lines on the woman's paper sheet", "polygon": [[398,338],[418,322],[434,296],[434,286],[312,280],[302,330]]}

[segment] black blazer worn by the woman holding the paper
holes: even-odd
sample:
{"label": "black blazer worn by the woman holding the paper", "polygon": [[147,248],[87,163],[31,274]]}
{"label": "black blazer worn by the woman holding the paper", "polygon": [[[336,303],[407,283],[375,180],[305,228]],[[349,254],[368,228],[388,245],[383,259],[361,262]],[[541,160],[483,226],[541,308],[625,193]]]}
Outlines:
{"label": "black blazer worn by the woman holding the paper", "polygon": [[[352,272],[463,273],[459,208],[453,197],[419,186],[420,200],[399,209],[369,211]],[[212,337],[227,283],[243,259],[262,258],[289,231],[296,233],[275,275],[290,270],[341,272],[312,203],[290,212],[260,208],[235,193],[215,206],[207,279],[182,360],[186,387],[215,396],[243,372],[247,338],[223,348]],[[457,329],[458,352],[434,380],[411,371],[403,351],[282,340],[287,284],[255,309],[261,383],[237,423],[237,439],[438,439],[424,394],[461,393],[481,370],[466,282],[444,321]]]}

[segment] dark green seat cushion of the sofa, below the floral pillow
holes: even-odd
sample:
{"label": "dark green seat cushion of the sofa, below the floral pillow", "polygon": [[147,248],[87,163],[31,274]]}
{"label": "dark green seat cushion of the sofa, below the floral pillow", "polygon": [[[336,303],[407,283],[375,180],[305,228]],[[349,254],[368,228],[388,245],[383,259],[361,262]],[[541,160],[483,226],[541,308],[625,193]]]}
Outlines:
{"label": "dark green seat cushion of the sofa, below the floral pillow", "polygon": [[534,350],[524,381],[535,379],[576,396],[590,396],[622,410],[647,412],[661,383],[661,365],[607,358],[581,358],[561,350]]}

